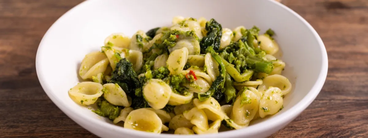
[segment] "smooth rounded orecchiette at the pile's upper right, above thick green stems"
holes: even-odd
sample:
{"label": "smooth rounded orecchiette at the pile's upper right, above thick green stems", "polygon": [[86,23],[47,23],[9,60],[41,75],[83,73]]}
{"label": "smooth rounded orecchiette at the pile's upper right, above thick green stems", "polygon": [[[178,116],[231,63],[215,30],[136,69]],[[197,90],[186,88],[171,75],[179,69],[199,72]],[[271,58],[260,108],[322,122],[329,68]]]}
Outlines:
{"label": "smooth rounded orecchiette at the pile's upper right, above thick green stems", "polygon": [[273,55],[277,51],[279,51],[279,45],[276,43],[275,40],[272,40],[269,36],[262,34],[257,37],[258,41],[261,41],[259,45],[262,50],[266,52],[266,54]]}

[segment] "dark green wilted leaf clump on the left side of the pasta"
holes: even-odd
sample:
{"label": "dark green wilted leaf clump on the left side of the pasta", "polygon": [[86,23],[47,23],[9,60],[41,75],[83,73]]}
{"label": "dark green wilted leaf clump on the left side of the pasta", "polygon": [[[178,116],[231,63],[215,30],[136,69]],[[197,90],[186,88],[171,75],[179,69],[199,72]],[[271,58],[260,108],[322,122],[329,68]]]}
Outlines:
{"label": "dark green wilted leaf clump on the left side of the pasta", "polygon": [[116,63],[116,68],[107,83],[117,83],[129,96],[134,95],[135,89],[141,85],[132,63],[126,58]]}

